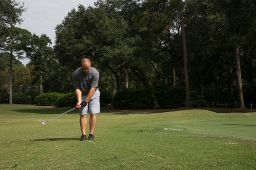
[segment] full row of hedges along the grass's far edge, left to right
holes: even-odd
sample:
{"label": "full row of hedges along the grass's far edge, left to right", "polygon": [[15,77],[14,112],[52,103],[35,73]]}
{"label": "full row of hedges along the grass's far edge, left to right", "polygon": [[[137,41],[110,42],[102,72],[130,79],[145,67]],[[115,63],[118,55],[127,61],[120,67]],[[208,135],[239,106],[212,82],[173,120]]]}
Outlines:
{"label": "full row of hedges along the grass's far edge, left to right", "polygon": [[[185,106],[185,89],[174,87],[156,87],[154,90],[160,108],[180,108]],[[256,103],[256,84],[243,86],[244,101]],[[236,89],[232,96],[227,91],[210,91],[201,97],[198,93],[190,91],[190,105],[192,107],[211,107],[214,103],[238,102]],[[74,93],[14,93],[13,103],[16,104],[39,104],[45,106],[70,107],[76,104]],[[147,90],[123,90],[112,97],[110,92],[101,91],[101,106],[112,104],[118,109],[150,109],[154,107],[154,99]]]}

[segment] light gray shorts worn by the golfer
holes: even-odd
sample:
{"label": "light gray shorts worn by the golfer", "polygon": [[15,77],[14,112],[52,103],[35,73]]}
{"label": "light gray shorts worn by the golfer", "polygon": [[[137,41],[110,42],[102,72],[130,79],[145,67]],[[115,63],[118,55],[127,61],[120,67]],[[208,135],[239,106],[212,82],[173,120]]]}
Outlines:
{"label": "light gray shorts worn by the golfer", "polygon": [[[86,115],[88,113],[91,114],[97,114],[101,112],[100,107],[100,91],[97,89],[93,96],[91,97],[91,100],[86,104],[86,106],[79,109],[80,115]],[[86,95],[82,95],[82,101],[84,101],[86,98]]]}

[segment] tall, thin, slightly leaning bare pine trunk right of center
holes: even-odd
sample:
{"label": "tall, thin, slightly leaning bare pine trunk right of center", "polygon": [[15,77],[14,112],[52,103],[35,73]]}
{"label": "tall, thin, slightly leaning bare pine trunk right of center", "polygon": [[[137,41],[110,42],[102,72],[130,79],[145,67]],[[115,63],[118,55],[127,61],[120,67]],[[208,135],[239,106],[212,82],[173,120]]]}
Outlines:
{"label": "tall, thin, slightly leaning bare pine trunk right of center", "polygon": [[185,27],[184,27],[182,8],[180,8],[179,12],[180,12],[181,30],[182,30],[184,78],[185,78],[185,89],[186,89],[186,107],[190,107],[190,90],[189,90],[189,77],[188,77],[188,57],[187,57],[187,45],[186,45],[186,36],[185,36]]}

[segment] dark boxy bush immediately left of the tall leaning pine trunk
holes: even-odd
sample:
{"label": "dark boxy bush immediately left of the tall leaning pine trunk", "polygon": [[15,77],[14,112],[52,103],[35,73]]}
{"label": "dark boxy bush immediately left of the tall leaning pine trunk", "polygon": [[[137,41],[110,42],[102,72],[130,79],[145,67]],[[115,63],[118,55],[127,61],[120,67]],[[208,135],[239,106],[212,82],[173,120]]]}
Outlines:
{"label": "dark boxy bush immediately left of the tall leaning pine trunk", "polygon": [[160,108],[174,109],[185,105],[185,89],[175,87],[158,87],[155,96]]}

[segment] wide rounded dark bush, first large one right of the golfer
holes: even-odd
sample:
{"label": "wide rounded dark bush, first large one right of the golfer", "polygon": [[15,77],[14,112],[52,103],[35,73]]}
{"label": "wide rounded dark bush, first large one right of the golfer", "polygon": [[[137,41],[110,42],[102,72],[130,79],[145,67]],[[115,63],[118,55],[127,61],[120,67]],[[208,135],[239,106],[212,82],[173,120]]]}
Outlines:
{"label": "wide rounded dark bush, first large one right of the golfer", "polygon": [[124,90],[116,94],[113,106],[118,109],[151,109],[154,100],[147,90]]}

